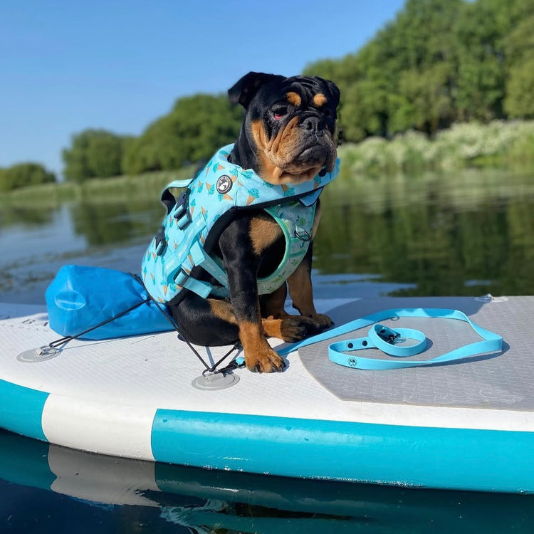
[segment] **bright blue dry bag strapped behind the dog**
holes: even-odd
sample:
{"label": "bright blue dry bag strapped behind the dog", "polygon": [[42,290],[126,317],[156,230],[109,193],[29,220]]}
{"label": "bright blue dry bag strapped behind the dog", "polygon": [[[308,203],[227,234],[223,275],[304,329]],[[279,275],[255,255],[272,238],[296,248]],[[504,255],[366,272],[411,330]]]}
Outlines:
{"label": "bright blue dry bag strapped behind the dog", "polygon": [[63,266],[46,289],[46,306],[50,327],[63,336],[105,340],[172,330],[167,310],[150,300],[141,281],[112,269]]}

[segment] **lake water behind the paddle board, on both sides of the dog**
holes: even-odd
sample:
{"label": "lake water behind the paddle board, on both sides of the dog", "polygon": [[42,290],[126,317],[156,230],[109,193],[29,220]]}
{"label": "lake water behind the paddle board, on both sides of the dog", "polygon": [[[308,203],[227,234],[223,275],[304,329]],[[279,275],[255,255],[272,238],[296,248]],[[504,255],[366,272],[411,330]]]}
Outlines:
{"label": "lake water behind the paddle board, on both sides of the dog", "polygon": [[[314,267],[337,285],[357,275],[390,295],[534,293],[531,176],[342,176],[322,200]],[[137,271],[163,214],[156,190],[3,208],[0,297],[43,293],[63,263]]]}

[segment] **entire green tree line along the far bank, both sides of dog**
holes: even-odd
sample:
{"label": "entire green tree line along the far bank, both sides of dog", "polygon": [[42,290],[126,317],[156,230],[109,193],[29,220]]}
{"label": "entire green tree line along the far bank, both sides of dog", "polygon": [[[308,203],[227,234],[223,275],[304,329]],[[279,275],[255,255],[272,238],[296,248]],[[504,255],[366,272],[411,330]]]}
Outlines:
{"label": "entire green tree line along the far bank, both sides of dog", "polygon": [[[431,137],[456,122],[534,118],[532,28],[533,0],[407,0],[359,51],[311,63],[305,74],[339,85],[347,142],[409,130]],[[83,182],[209,159],[235,140],[242,117],[226,95],[179,98],[138,137],[95,129],[73,135],[62,152],[63,176]],[[0,189],[13,183],[3,178],[8,170],[0,169]],[[20,183],[27,182],[28,172],[22,176]]]}

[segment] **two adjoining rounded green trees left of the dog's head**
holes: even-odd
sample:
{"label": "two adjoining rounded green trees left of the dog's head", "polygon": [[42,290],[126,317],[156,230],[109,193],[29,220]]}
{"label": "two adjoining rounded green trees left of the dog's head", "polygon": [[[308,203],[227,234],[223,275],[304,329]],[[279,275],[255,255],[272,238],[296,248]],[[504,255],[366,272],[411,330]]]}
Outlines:
{"label": "two adjoining rounded green trees left of the dog's head", "polygon": [[179,98],[168,115],[152,122],[139,137],[105,130],[73,135],[63,150],[67,180],[179,169],[209,159],[239,133],[243,112],[226,95]]}

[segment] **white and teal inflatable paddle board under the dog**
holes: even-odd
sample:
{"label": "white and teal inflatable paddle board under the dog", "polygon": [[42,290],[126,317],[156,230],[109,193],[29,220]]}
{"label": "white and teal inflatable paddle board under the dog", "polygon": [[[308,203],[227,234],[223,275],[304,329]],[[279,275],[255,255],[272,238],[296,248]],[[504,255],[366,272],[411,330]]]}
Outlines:
{"label": "white and teal inflatable paddle board under the dog", "polygon": [[[58,337],[46,310],[0,305],[0,426],[171,464],[534,492],[534,298],[320,303],[337,325],[403,306],[462,310],[503,335],[505,350],[449,365],[362,371],[335,365],[321,345],[310,345],[288,357],[283,373],[234,370],[239,382],[206,390],[192,386],[199,362],[174,333],[72,341],[56,355],[31,357]],[[390,326],[422,330],[428,358],[476,340],[466,323],[451,320],[403,318]],[[216,361],[226,348],[205,352]]]}

